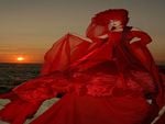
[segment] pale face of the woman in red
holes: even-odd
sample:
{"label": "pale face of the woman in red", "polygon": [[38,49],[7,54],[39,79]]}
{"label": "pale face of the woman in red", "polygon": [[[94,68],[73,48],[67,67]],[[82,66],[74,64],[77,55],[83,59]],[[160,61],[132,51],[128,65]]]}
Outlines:
{"label": "pale face of the woman in red", "polygon": [[116,30],[121,27],[122,27],[122,22],[120,20],[110,20],[109,30]]}

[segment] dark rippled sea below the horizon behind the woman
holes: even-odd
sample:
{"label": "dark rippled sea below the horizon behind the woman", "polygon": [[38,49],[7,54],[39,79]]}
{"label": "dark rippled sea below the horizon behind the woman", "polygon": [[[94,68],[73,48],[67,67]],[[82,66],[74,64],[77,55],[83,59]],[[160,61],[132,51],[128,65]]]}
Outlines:
{"label": "dark rippled sea below the horizon behind the woman", "polygon": [[[0,93],[38,76],[42,64],[0,64]],[[165,65],[158,66],[165,74]]]}

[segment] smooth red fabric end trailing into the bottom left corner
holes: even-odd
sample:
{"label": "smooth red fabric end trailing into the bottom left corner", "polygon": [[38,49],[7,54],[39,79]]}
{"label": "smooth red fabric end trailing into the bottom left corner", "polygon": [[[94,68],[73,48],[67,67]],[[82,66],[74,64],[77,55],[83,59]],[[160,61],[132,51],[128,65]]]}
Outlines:
{"label": "smooth red fabric end trailing into the bottom left corner", "polygon": [[28,117],[32,117],[35,114],[40,105],[41,102],[31,103],[22,99],[16,99],[8,103],[0,111],[0,120],[10,122],[11,124],[23,124]]}

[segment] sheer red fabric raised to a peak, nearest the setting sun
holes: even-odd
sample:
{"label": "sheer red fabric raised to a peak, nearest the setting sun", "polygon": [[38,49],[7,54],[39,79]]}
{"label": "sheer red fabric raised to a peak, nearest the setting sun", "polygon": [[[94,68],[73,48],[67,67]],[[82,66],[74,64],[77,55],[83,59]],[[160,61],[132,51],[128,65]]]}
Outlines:
{"label": "sheer red fabric raised to a peak, nearest the setting sun", "polygon": [[89,44],[78,36],[66,34],[45,54],[41,75],[66,70],[70,63],[86,54]]}

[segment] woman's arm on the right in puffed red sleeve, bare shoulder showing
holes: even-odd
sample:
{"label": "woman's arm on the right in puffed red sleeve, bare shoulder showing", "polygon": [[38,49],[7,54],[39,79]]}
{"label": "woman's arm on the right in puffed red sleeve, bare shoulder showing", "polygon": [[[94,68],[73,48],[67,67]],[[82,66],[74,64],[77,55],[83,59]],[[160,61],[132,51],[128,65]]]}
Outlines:
{"label": "woman's arm on the right in puffed red sleeve, bare shoulder showing", "polygon": [[130,48],[133,55],[140,60],[143,67],[151,72],[155,81],[160,80],[158,69],[155,65],[154,58],[150,53],[146,45],[152,42],[152,38],[143,31],[139,29],[131,30],[132,41],[130,41]]}

